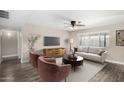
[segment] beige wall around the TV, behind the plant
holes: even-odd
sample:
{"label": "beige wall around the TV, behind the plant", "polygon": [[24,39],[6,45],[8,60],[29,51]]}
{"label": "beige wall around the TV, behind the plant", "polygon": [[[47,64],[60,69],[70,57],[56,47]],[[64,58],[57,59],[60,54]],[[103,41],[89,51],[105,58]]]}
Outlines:
{"label": "beige wall around the TV, behind the plant", "polygon": [[[21,62],[22,63],[28,62],[28,60],[29,60],[27,37],[31,33],[38,34],[41,36],[35,44],[36,50],[43,49],[43,48],[53,48],[53,47],[64,47],[64,48],[68,47],[67,42],[66,42],[66,40],[69,38],[67,31],[49,28],[49,27],[45,27],[45,26],[36,26],[36,25],[30,25],[30,24],[25,25],[22,29],[22,53],[21,53]],[[60,46],[45,47],[43,45],[43,43],[44,43],[43,37],[44,36],[60,37]]]}

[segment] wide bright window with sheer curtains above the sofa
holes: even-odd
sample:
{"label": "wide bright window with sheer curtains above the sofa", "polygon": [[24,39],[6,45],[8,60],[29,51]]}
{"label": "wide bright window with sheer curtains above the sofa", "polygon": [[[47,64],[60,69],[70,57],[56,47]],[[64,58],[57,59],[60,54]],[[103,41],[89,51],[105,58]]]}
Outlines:
{"label": "wide bright window with sheer curtains above the sofa", "polygon": [[78,41],[80,46],[108,47],[109,33],[108,32],[80,33],[78,34]]}

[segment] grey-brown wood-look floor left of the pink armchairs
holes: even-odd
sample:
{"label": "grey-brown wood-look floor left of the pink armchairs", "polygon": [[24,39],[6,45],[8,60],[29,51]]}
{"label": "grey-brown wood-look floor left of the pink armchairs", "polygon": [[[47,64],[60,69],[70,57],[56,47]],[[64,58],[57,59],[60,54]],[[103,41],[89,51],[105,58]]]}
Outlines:
{"label": "grey-brown wood-look floor left of the pink armchairs", "polygon": [[38,82],[40,77],[30,63],[21,64],[18,60],[0,64],[0,82]]}

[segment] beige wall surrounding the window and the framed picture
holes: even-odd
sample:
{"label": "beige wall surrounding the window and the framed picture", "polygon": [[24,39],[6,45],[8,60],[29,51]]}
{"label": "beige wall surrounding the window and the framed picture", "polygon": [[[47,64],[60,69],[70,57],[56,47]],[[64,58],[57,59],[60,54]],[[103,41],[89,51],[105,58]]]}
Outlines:
{"label": "beige wall surrounding the window and the framed picture", "polygon": [[110,47],[107,48],[108,56],[107,61],[113,61],[118,63],[124,63],[124,46],[116,46],[116,30],[124,30],[124,24],[108,25],[102,27],[95,27],[78,32],[71,32],[70,38],[74,39],[73,46],[77,46],[77,33],[81,32],[98,32],[98,31],[109,31],[110,32]]}

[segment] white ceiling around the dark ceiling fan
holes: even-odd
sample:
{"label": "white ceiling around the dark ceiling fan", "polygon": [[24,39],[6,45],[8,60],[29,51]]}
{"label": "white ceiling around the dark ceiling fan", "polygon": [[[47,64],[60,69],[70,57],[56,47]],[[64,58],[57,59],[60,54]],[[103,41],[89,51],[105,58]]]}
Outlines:
{"label": "white ceiling around the dark ceiling fan", "polygon": [[0,18],[0,25],[15,29],[25,24],[65,29],[68,19],[82,21],[86,26],[81,29],[124,22],[123,10],[9,10],[9,13],[9,19]]}

